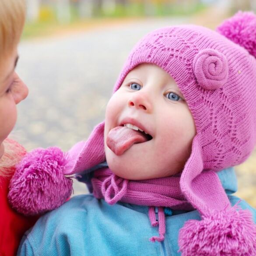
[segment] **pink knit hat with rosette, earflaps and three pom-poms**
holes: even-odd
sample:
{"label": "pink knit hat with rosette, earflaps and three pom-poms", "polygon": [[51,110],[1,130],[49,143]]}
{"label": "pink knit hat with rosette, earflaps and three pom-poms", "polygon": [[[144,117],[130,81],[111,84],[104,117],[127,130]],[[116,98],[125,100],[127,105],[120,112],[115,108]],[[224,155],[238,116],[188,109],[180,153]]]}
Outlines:
{"label": "pink knit hat with rosette, earflaps and three pom-poms", "polygon": [[[181,229],[182,255],[256,255],[256,225],[250,212],[231,207],[217,175],[208,175],[244,162],[256,145],[256,16],[238,12],[224,21],[217,32],[180,25],[149,33],[130,53],[114,92],[140,63],[154,63],[174,78],[196,125],[192,153],[182,172],[180,186],[189,203],[199,210],[202,220],[187,221]],[[47,165],[56,175],[53,183],[60,183],[65,193],[55,189],[56,200],[49,196],[44,202],[33,199],[28,207],[25,199],[31,192],[21,196],[20,187],[21,184],[34,187],[35,181],[28,181],[29,174],[21,175],[18,170],[9,195],[13,206],[25,214],[60,206],[70,195],[72,186],[70,179],[61,178],[63,173],[73,175],[105,161],[103,133],[104,122],[96,126],[87,142],[76,144],[66,154],[56,148],[37,150],[38,155],[34,153],[33,158],[21,163],[21,172],[26,166],[30,166],[28,173],[38,170],[38,164],[34,163],[40,159],[40,168]],[[49,177],[44,177],[46,183],[53,179],[52,174]],[[54,189],[46,187],[46,194],[53,194]],[[204,251],[197,248],[198,243],[204,243]]]}

